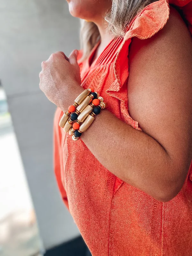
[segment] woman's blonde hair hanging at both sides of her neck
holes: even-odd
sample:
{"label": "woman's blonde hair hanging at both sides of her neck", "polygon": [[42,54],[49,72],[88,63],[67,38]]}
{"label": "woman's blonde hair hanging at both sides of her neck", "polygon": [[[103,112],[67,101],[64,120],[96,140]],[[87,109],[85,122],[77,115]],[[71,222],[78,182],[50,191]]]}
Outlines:
{"label": "woman's blonde hair hanging at both sides of her neck", "polygon": [[[157,0],[112,0],[111,10],[104,17],[108,30],[114,36],[124,36],[124,30],[129,22],[145,6]],[[80,44],[83,49],[82,60],[84,60],[94,45],[100,39],[100,33],[95,23],[81,20]]]}

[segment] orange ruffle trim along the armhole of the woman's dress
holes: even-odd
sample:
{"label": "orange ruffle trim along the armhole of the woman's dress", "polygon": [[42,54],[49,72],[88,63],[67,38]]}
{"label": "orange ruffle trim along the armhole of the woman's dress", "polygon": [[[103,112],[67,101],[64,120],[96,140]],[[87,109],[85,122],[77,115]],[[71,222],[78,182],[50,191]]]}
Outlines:
{"label": "orange ruffle trim along the armhole of the woman's dress", "polygon": [[[124,83],[129,76],[128,51],[132,37],[147,39],[155,35],[164,27],[169,19],[169,4],[178,6],[183,17],[188,22],[188,28],[192,32],[192,1],[191,0],[159,0],[147,5],[131,21],[126,29],[125,36],[116,54],[114,61],[115,81],[109,85],[106,93],[121,100],[124,112],[127,111],[127,120],[134,128],[141,130],[138,122],[134,121],[128,114],[127,92]],[[121,90],[120,90],[121,89]]]}

